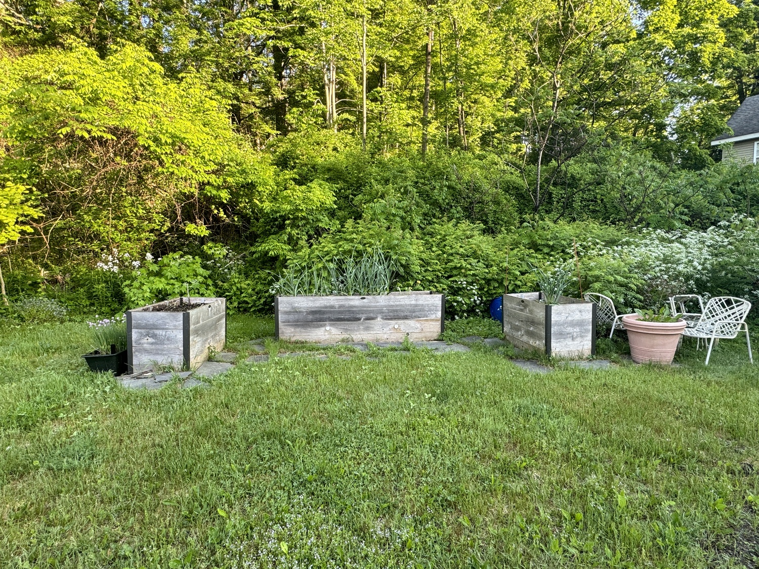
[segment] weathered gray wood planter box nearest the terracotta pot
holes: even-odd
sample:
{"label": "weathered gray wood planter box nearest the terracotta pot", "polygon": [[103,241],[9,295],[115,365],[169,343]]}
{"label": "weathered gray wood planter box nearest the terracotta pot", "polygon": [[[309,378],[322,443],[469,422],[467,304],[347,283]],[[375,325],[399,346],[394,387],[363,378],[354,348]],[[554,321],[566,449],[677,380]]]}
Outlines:
{"label": "weathered gray wood planter box nearest the terracotta pot", "polygon": [[503,295],[503,336],[522,350],[554,357],[596,353],[596,303],[561,297],[559,304],[540,302],[540,293]]}

